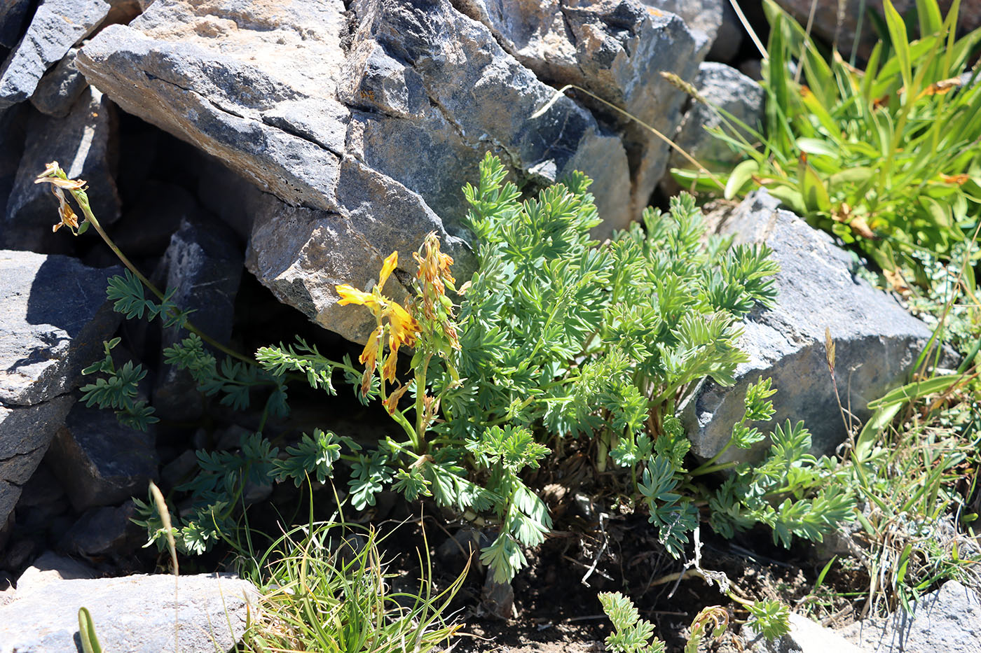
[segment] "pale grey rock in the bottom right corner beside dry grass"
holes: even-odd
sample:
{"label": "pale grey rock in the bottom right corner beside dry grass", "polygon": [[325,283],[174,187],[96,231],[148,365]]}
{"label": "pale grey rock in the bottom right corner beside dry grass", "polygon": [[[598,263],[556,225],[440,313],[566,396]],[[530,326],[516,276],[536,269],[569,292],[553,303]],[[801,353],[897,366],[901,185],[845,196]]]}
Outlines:
{"label": "pale grey rock in the bottom right corner beside dry grass", "polygon": [[874,653],[977,653],[981,651],[981,602],[956,580],[890,619],[873,618],[842,629],[846,639]]}

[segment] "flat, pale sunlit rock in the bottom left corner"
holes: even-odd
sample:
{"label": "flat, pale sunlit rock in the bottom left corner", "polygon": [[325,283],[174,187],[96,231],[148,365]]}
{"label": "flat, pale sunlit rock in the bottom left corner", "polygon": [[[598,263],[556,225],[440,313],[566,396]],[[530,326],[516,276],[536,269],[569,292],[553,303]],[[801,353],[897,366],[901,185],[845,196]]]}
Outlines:
{"label": "flat, pale sunlit rock in the bottom left corner", "polygon": [[[228,651],[255,614],[251,582],[231,575],[56,580],[0,606],[0,653],[75,651],[78,609],[88,609],[106,651]],[[175,642],[175,594],[179,641]]]}

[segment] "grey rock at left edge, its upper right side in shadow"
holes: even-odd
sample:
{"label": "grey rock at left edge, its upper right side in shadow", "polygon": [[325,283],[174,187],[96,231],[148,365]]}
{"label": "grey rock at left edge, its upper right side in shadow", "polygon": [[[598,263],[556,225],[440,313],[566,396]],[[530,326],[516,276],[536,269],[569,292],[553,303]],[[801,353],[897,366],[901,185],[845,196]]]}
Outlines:
{"label": "grey rock at left edge, its upper right side in shadow", "polygon": [[81,369],[122,320],[105,294],[119,272],[0,250],[0,524],[75,402]]}

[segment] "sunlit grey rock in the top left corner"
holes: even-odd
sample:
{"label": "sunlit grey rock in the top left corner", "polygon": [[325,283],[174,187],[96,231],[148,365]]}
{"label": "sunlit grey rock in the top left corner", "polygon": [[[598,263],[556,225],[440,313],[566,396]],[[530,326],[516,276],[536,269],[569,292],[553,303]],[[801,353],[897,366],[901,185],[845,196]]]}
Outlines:
{"label": "sunlit grey rock in the top left corner", "polygon": [[30,97],[41,75],[108,14],[109,4],[103,0],[41,2],[24,38],[0,67],[0,110]]}

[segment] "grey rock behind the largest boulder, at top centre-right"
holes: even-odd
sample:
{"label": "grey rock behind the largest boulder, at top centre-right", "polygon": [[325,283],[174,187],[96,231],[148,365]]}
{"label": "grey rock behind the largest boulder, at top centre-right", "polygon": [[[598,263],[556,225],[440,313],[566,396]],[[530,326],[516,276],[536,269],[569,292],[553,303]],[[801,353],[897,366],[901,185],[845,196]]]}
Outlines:
{"label": "grey rock behind the largest boulder, at top centre-right", "polygon": [[[457,6],[490,25],[503,47],[540,79],[554,86],[572,83],[586,88],[661,133],[674,132],[684,97],[660,73],[692,79],[708,45],[706,37],[698,51],[697,37],[679,17],[637,1],[461,0]],[[664,173],[669,146],[608,106],[579,97],[619,132],[630,168],[628,195],[617,182],[621,171],[602,170],[585,159],[578,162],[595,181],[596,206],[606,221],[605,229],[596,234],[602,236],[640,217]],[[602,170],[600,176],[595,175],[597,169]],[[607,193],[619,201],[611,201]]]}

